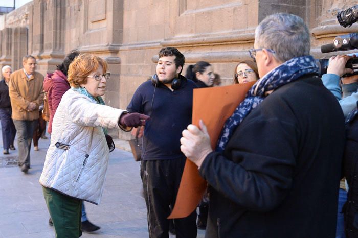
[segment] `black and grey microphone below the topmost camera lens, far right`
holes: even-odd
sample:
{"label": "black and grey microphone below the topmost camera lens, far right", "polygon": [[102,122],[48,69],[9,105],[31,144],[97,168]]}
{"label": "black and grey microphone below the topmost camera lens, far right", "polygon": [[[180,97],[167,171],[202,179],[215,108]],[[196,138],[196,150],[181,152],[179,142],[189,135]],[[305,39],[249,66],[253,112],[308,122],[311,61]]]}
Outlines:
{"label": "black and grey microphone below the topmost camera lens, far right", "polygon": [[348,51],[358,49],[358,34],[349,33],[347,35],[337,36],[333,40],[333,44],[325,44],[321,46],[322,53],[334,51]]}

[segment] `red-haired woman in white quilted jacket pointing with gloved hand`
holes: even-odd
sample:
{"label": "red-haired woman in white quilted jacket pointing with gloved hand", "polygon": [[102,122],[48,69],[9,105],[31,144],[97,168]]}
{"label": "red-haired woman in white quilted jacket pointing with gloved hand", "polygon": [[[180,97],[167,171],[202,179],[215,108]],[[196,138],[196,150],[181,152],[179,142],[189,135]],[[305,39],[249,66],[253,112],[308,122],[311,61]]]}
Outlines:
{"label": "red-haired woman in white quilted jacket pointing with gloved hand", "polygon": [[71,89],[54,115],[40,177],[56,237],[80,237],[82,201],[100,203],[109,158],[107,128],[129,131],[149,118],[104,105],[109,76],[107,63],[92,54],[77,56],[68,70]]}

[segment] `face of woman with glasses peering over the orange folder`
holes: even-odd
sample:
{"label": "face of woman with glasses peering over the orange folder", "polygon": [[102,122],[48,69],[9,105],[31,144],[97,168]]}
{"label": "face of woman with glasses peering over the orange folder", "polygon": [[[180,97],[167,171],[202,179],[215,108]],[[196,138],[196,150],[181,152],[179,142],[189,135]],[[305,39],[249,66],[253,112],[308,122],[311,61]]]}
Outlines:
{"label": "face of woman with glasses peering over the orange folder", "polygon": [[250,60],[240,61],[234,70],[233,83],[248,83],[259,79],[257,64]]}

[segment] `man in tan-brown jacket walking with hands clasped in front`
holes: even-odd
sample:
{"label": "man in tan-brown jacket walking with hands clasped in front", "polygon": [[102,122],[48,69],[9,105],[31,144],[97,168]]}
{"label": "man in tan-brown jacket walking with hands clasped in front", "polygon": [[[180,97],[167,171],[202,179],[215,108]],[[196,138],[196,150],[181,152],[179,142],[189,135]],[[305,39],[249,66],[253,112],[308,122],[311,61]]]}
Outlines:
{"label": "man in tan-brown jacket walking with hands clasped in front", "polygon": [[17,130],[18,165],[26,173],[30,169],[31,139],[39,116],[38,107],[43,102],[43,76],[35,72],[35,57],[26,55],[23,66],[10,76],[9,95]]}

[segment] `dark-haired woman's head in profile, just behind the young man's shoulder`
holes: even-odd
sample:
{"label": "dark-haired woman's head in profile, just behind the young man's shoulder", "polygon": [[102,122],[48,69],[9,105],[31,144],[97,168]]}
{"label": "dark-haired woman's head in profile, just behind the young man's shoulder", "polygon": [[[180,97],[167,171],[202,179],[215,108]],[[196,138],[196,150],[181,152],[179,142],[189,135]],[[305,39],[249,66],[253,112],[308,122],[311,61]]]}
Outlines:
{"label": "dark-haired woman's head in profile, just behind the young man's shoulder", "polygon": [[212,87],[215,78],[213,66],[205,61],[189,65],[185,78],[193,80],[199,88]]}

